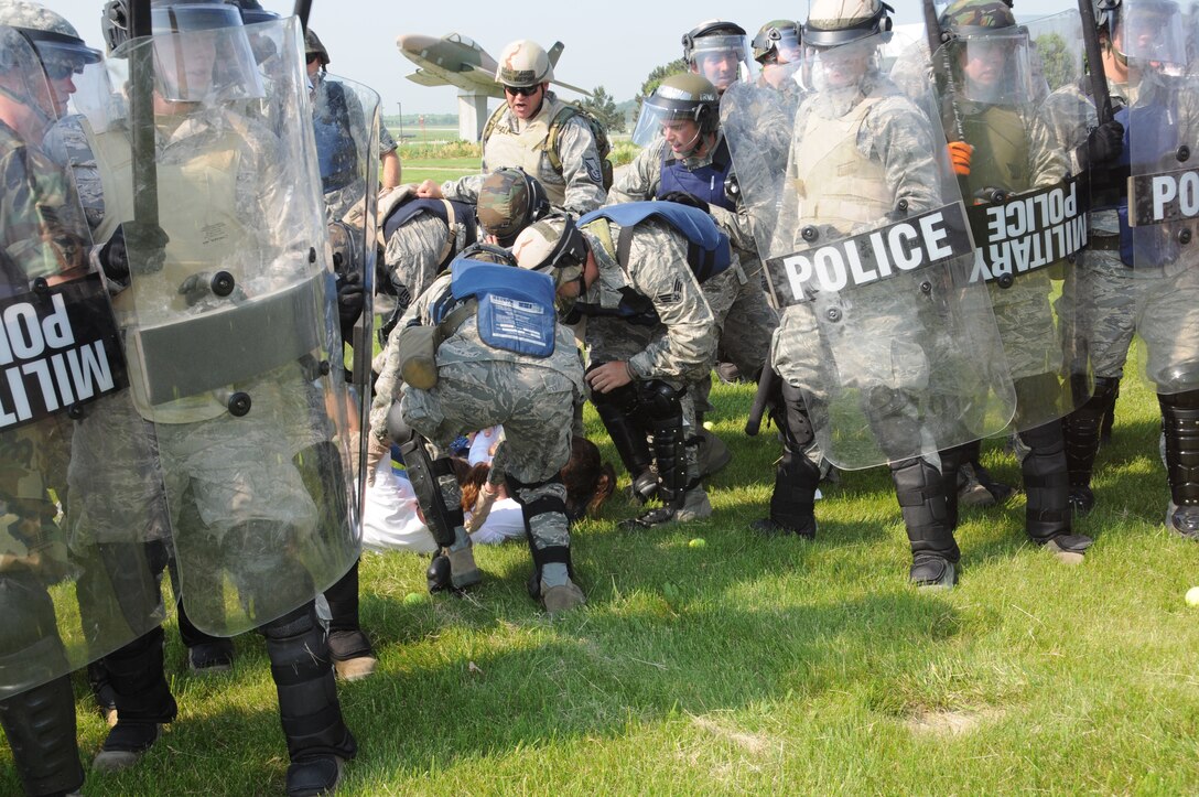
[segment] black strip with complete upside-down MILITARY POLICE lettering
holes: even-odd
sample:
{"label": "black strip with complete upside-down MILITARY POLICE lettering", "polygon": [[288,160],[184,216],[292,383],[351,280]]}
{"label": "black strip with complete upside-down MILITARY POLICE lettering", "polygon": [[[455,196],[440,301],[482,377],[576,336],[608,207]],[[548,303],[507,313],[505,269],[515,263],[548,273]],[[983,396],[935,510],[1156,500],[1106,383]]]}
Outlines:
{"label": "black strip with complete upside-down MILITARY POLICE lettering", "polygon": [[1086,244],[1086,207],[1078,201],[1078,180],[1014,195],[968,211],[974,233],[970,282],[1004,280],[1048,266]]}

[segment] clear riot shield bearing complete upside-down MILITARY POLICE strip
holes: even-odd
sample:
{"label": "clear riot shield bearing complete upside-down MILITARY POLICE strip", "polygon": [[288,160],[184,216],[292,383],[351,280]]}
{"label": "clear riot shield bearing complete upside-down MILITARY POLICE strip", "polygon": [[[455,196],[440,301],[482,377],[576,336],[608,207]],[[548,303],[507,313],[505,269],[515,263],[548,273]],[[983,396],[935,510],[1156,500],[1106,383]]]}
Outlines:
{"label": "clear riot shield bearing complete upside-down MILITARY POLICE strip", "polygon": [[[1067,351],[1083,328],[1073,294],[1060,280],[1087,242],[1087,188],[1053,143],[1040,97],[1049,79],[1078,85],[1081,26],[1077,11],[1019,28],[971,29],[933,58],[936,107],[950,139],[970,147],[958,185],[966,199],[975,253],[969,279],[986,285],[1016,386],[1012,428],[1055,421],[1091,394],[1084,348]],[[1040,55],[1034,89],[1030,55]],[[948,73],[945,70],[948,70]]]}

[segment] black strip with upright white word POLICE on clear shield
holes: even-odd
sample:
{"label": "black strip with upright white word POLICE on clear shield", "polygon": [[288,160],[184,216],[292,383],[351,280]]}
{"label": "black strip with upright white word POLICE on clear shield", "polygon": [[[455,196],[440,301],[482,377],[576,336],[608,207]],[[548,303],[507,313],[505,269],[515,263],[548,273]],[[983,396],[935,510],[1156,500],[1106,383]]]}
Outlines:
{"label": "black strip with upright white word POLICE on clear shield", "polygon": [[842,291],[916,271],[974,250],[962,203],[905,218],[836,243],[771,258],[766,276],[779,307],[809,302],[819,291]]}

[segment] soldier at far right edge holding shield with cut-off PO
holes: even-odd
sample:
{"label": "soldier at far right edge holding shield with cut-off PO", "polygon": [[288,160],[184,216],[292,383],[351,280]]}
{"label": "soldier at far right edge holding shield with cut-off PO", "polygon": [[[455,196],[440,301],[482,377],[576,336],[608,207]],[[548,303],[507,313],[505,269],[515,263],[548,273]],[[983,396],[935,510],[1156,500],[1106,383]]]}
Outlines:
{"label": "soldier at far right edge holding shield with cut-off PO", "polygon": [[1167,527],[1199,539],[1199,254],[1195,209],[1179,201],[1180,187],[1194,181],[1197,76],[1176,2],[1090,2],[1080,10],[1095,22],[1084,30],[1091,81],[1064,86],[1042,111],[1092,189],[1090,243],[1064,290],[1086,321],[1072,343],[1095,364],[1095,394],[1064,421],[1071,503],[1080,514],[1095,506],[1101,423],[1139,334],[1162,407]]}

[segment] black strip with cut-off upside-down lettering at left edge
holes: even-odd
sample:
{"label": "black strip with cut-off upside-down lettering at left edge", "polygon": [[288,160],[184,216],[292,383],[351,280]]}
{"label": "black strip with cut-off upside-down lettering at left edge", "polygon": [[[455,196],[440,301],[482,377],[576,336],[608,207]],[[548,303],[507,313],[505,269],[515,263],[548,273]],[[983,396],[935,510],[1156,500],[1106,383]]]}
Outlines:
{"label": "black strip with cut-off upside-down lettering at left edge", "polygon": [[0,429],[128,385],[98,274],[0,301]]}

